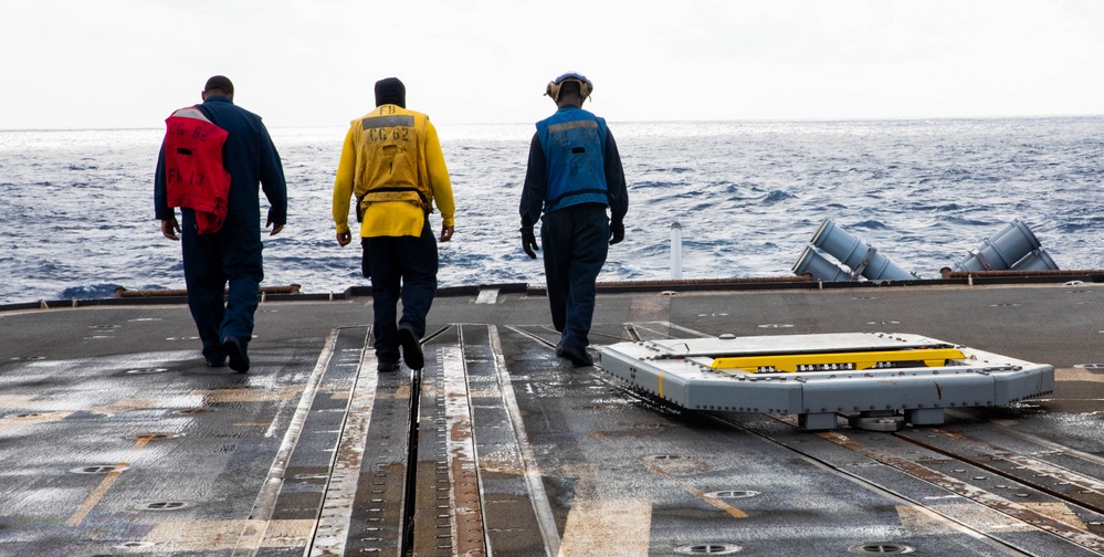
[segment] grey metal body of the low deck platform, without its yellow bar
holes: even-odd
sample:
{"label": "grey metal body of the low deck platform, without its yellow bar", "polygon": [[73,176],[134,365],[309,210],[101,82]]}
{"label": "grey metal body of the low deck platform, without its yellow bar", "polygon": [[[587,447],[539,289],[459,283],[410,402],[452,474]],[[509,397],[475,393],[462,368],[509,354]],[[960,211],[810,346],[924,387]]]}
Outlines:
{"label": "grey metal body of the low deck platform, without its yellow bar", "polygon": [[[943,367],[751,374],[714,369],[715,358],[960,349]],[[768,413],[903,411],[1006,404],[1053,390],[1053,367],[910,334],[841,333],[619,343],[599,348],[603,370],[688,409]]]}

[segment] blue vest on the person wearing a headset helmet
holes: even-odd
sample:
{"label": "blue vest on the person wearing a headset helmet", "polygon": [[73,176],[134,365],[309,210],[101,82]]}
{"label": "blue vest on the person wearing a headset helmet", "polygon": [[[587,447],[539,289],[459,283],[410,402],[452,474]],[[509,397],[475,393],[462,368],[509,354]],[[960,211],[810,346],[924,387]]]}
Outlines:
{"label": "blue vest on the person wearing a headset helmet", "polygon": [[560,108],[537,123],[548,172],[546,213],[579,203],[609,204],[606,134],[604,119],[576,107]]}

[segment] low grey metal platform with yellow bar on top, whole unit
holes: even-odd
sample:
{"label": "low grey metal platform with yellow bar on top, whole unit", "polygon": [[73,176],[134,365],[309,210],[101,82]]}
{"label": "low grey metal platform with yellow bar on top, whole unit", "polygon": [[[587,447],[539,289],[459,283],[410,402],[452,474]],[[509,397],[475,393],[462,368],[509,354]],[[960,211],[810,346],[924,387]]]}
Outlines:
{"label": "low grey metal platform with yellow bar on top, whole unit", "polygon": [[599,347],[603,370],[692,410],[796,414],[809,430],[943,423],[946,408],[1054,389],[1054,368],[918,335],[842,333],[665,339]]}

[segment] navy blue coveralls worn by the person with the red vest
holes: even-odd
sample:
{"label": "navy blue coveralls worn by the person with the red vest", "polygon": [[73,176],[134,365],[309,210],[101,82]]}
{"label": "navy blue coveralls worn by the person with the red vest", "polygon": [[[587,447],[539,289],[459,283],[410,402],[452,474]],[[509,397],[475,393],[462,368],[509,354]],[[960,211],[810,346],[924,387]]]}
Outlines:
{"label": "navy blue coveralls worn by the person with the red vest", "polygon": [[[269,199],[267,220],[280,225],[287,221],[287,185],[280,154],[260,116],[221,95],[208,96],[198,106],[229,134],[222,151],[231,177],[227,221],[218,232],[199,234],[196,212],[181,209],[180,240],[188,308],[203,343],[203,356],[209,362],[221,362],[225,359],[223,338],[236,337],[244,348],[253,336],[253,314],[264,278],[259,185]],[[166,204],[164,145],[154,177],[154,206],[157,219],[174,217],[174,209]],[[223,305],[228,282],[230,295]]]}

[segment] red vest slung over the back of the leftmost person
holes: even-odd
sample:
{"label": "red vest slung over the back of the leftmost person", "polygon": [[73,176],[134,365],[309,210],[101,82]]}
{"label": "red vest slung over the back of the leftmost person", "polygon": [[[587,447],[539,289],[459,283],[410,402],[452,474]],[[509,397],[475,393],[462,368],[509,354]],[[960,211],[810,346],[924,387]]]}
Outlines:
{"label": "red vest slung over the back of the leftmost person", "polygon": [[222,165],[229,135],[196,106],[165,119],[165,190],[169,207],[196,211],[200,234],[218,232],[227,220],[230,172]]}

